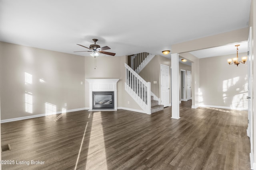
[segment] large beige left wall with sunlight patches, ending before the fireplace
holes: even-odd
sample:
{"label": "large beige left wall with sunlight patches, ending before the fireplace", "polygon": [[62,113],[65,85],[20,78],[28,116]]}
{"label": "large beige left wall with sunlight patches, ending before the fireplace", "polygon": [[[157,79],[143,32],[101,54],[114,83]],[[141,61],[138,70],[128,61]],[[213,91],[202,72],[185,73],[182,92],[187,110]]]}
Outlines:
{"label": "large beige left wall with sunlight patches, ending before the fireplace", "polygon": [[84,57],[3,42],[0,46],[2,120],[85,107]]}

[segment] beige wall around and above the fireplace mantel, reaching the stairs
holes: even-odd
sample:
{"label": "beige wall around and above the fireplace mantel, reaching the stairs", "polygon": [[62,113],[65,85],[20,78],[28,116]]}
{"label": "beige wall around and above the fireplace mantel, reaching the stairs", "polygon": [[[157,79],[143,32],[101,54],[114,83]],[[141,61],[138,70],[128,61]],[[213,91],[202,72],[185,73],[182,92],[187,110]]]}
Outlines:
{"label": "beige wall around and above the fireplace mantel, reaching the stairs", "polygon": [[[113,57],[102,56],[96,57],[96,69],[94,69],[94,57],[85,57],[85,79],[90,78],[118,78],[117,82],[117,107],[142,110],[140,106],[125,91],[125,67],[126,56]],[[89,107],[89,84],[85,82],[85,107]],[[129,103],[129,104],[128,104]]]}

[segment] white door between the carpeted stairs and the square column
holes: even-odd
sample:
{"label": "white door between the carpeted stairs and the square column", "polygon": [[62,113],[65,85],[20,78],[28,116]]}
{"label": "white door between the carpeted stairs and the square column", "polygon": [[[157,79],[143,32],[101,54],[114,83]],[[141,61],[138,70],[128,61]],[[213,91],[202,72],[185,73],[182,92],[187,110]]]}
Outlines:
{"label": "white door between the carpeted stairs and the square column", "polygon": [[169,106],[170,104],[170,71],[169,66],[161,64],[161,104],[164,107]]}

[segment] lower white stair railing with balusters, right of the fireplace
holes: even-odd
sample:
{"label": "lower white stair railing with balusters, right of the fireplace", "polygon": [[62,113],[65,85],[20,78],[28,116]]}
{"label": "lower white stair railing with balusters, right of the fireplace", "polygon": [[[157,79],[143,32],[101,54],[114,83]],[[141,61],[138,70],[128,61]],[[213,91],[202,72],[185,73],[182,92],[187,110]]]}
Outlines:
{"label": "lower white stair railing with balusters, right of the fireplace", "polygon": [[126,70],[125,90],[143,109],[151,114],[151,84],[139,76],[130,66],[124,63]]}

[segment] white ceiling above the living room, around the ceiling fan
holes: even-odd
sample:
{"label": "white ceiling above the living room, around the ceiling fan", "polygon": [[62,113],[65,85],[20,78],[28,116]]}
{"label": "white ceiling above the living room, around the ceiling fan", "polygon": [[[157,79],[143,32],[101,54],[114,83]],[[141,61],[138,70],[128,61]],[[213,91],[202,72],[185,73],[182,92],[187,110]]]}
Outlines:
{"label": "white ceiling above the living room, around the ceiling fan", "polygon": [[0,41],[90,56],[73,51],[97,38],[116,56],[162,55],[172,44],[248,27],[250,2],[0,0]]}

